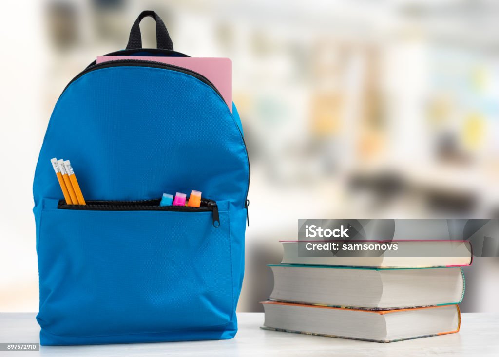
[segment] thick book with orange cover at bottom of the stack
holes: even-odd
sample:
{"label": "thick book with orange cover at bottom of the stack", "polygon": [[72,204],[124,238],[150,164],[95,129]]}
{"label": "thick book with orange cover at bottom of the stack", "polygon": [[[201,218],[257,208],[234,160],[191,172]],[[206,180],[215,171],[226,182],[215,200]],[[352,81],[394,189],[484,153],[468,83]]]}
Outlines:
{"label": "thick book with orange cover at bottom of the stack", "polygon": [[265,330],[380,343],[453,334],[461,325],[458,305],[374,311],[275,301],[262,304]]}

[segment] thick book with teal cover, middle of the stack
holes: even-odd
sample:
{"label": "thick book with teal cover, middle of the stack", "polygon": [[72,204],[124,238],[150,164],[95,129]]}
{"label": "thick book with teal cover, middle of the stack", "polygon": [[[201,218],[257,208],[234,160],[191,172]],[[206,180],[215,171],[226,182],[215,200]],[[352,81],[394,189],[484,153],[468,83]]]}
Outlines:
{"label": "thick book with teal cover, middle of the stack", "polygon": [[274,275],[270,299],[278,301],[401,309],[459,304],[465,293],[464,273],[458,267],[369,269],[270,265],[270,268]]}

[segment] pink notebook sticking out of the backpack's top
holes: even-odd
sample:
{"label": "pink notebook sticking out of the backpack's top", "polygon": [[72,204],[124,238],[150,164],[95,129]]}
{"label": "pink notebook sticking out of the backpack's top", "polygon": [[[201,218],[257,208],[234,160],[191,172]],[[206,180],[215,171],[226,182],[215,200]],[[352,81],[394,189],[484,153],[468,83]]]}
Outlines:
{"label": "pink notebook sticking out of the backpack's top", "polygon": [[98,56],[97,63],[116,59],[163,62],[198,72],[217,87],[232,113],[232,61],[229,58]]}

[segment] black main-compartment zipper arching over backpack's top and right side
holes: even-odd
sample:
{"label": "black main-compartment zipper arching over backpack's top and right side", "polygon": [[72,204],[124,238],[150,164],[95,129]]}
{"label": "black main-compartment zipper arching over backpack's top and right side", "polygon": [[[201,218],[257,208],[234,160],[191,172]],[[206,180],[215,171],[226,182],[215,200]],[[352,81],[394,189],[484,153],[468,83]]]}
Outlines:
{"label": "black main-compartment zipper arching over backpack's top and right side", "polygon": [[[78,73],[66,85],[66,87],[64,88],[64,90],[62,91],[62,93],[64,93],[66,91],[66,89],[69,87],[69,85],[71,83],[73,83],[75,80],[77,80],[78,78],[80,78],[81,76],[83,76],[84,74],[86,74],[88,72],[91,72],[91,71],[94,71],[94,70],[97,70],[97,69],[102,69],[102,68],[122,67],[122,66],[164,68],[164,69],[171,69],[171,70],[174,70],[174,71],[177,71],[177,72],[189,74],[189,75],[191,75],[191,76],[199,79],[201,82],[207,84],[209,87],[211,87],[220,96],[220,98],[222,98],[222,100],[223,100],[222,94],[220,94],[220,92],[217,89],[217,87],[215,87],[215,85],[208,78],[206,78],[204,75],[202,75],[202,74],[200,74],[200,73],[198,73],[196,71],[192,71],[192,70],[187,69],[187,68],[175,66],[173,64],[167,64],[167,63],[157,62],[157,61],[139,60],[139,59],[117,59],[117,60],[106,61],[106,62],[95,63],[95,64],[94,64],[94,62],[92,62],[87,68],[85,68],[83,71],[81,71],[80,73]],[[61,95],[62,95],[62,93],[61,93]],[[248,188],[246,189],[246,198],[245,198],[243,206],[244,206],[244,208],[246,208],[247,223],[248,223],[248,226],[250,226],[250,217],[249,217],[249,213],[248,213],[248,205],[249,205],[248,193],[250,191],[250,179],[251,179],[250,158],[248,157],[248,147],[246,146],[246,141],[245,141],[245,137],[243,135],[243,132],[239,128],[239,125],[236,125],[236,126],[238,127],[239,134],[241,135],[241,139],[243,139],[243,145],[245,146],[245,151],[246,151],[246,158],[248,160]]]}

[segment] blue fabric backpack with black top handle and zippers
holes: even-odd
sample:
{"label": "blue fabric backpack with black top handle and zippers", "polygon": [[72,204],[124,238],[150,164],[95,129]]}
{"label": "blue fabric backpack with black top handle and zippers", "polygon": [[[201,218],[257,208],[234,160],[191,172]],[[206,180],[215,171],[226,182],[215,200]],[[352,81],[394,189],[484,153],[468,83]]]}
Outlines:
{"label": "blue fabric backpack with black top handle and zippers", "polygon": [[[142,48],[146,16],[156,49]],[[237,109],[199,73],[120,59],[187,57],[154,11],[108,55],[60,95],[36,166],[40,343],[233,338],[250,181]],[[54,157],[70,159],[86,205],[62,199]],[[191,189],[200,207],[159,205]]]}

